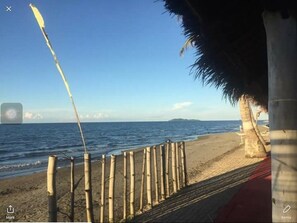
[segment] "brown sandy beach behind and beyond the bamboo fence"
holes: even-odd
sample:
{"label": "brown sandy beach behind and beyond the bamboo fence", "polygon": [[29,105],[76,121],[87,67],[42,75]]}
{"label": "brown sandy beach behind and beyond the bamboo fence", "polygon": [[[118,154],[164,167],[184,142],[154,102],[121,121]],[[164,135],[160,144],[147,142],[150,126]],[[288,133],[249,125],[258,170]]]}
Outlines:
{"label": "brown sandy beach behind and beyond the bamboo fence", "polygon": [[[244,157],[244,150],[239,148],[240,137],[235,133],[223,133],[201,136],[197,140],[186,142],[186,157],[189,182],[195,183],[229,171],[229,164],[220,160],[234,151]],[[139,209],[141,185],[142,150],[135,152],[135,210]],[[251,160],[251,159],[249,159]],[[129,159],[128,159],[129,161]],[[253,162],[256,162],[254,160]],[[236,163],[233,162],[233,163]],[[246,162],[246,165],[251,162]],[[216,168],[209,168],[218,165]],[[129,162],[128,162],[129,166]],[[229,165],[230,166],[230,165]],[[215,166],[214,166],[215,167]],[[109,175],[109,161],[106,165],[106,176]],[[154,179],[154,178],[153,178]],[[92,163],[93,206],[95,221],[99,219],[101,163]],[[75,166],[75,221],[86,221],[83,166]],[[108,179],[106,179],[105,204],[108,206]],[[128,184],[129,188],[129,184]],[[146,188],[145,188],[146,189]],[[153,199],[155,198],[154,186]],[[171,189],[172,190],[172,189]],[[69,221],[70,213],[70,170],[62,168],[57,171],[58,221]],[[129,195],[128,195],[129,196]],[[117,156],[115,177],[115,221],[123,216],[123,156]],[[146,199],[144,204],[146,204]],[[0,221],[6,221],[6,209],[9,205],[15,208],[14,221],[47,221],[47,188],[46,173],[15,177],[0,181]],[[129,204],[128,204],[129,213]],[[108,210],[105,210],[107,221]]]}

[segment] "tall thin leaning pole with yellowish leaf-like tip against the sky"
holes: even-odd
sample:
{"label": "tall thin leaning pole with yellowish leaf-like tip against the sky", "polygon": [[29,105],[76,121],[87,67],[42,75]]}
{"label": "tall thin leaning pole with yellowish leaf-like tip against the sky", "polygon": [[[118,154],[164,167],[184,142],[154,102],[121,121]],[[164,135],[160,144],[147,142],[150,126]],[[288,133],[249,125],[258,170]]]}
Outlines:
{"label": "tall thin leaning pole with yellowish leaf-like tip against the sky", "polygon": [[76,106],[75,106],[75,103],[74,103],[74,100],[73,100],[73,97],[72,97],[72,94],[71,94],[71,91],[70,91],[70,87],[69,87],[69,84],[67,82],[67,79],[64,75],[64,72],[62,70],[62,67],[58,61],[58,58],[55,54],[55,51],[50,43],[50,40],[49,40],[49,37],[45,31],[45,23],[44,23],[44,20],[43,20],[43,17],[42,15],[40,14],[39,10],[33,5],[33,4],[30,4],[29,5],[33,11],[33,14],[36,18],[36,21],[38,23],[38,26],[43,34],[43,37],[46,41],[46,45],[48,46],[49,50],[51,51],[51,54],[54,58],[54,61],[55,61],[55,64],[56,64],[56,67],[63,79],[63,82],[64,82],[64,85],[66,87],[66,90],[68,92],[68,95],[69,95],[69,98],[71,100],[71,103],[72,103],[72,107],[73,107],[73,110],[74,110],[74,113],[75,113],[75,117],[76,117],[76,121],[77,121],[77,125],[78,125],[78,128],[79,128],[79,131],[80,131],[80,135],[81,135],[81,140],[82,140],[82,143],[83,143],[83,148],[84,148],[84,151],[85,153],[87,153],[87,147],[86,147],[86,143],[85,143],[85,139],[84,139],[84,134],[83,134],[83,131],[82,131],[82,128],[81,128],[81,125],[80,125],[80,119],[79,119],[79,116],[78,116],[78,112],[77,112],[77,109],[76,109]]}

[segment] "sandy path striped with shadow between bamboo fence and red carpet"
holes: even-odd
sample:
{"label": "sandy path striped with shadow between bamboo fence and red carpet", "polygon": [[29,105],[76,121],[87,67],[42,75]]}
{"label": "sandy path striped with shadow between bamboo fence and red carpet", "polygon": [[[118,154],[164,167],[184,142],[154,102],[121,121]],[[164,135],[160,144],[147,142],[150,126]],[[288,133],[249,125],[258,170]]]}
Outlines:
{"label": "sandy path striped with shadow between bamboo fence and red carpet", "polygon": [[218,213],[224,216],[230,209],[223,207],[235,194],[242,193],[240,189],[263,160],[246,159],[243,154],[243,149],[237,149],[206,164],[207,168],[191,179],[190,186],[136,216],[133,222],[214,222]]}

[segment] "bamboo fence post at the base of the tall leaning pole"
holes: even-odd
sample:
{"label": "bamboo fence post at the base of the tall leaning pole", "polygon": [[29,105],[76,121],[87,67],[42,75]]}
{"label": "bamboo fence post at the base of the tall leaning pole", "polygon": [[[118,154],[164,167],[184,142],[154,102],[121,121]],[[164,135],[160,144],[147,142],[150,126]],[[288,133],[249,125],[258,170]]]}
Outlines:
{"label": "bamboo fence post at the base of the tall leaning pole", "polygon": [[85,167],[85,195],[86,195],[86,212],[87,222],[94,222],[93,204],[92,204],[92,169],[91,169],[91,154],[84,154]]}

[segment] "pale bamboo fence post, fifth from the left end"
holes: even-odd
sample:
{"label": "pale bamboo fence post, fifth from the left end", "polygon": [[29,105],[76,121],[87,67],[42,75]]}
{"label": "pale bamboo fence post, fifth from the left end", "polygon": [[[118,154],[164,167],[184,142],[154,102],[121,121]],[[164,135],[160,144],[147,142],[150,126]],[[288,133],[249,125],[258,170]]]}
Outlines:
{"label": "pale bamboo fence post, fifth from the left end", "polygon": [[115,162],[116,162],[116,156],[111,155],[110,160],[110,174],[109,174],[109,195],[108,195],[108,218],[109,222],[114,222],[114,182],[115,182]]}

